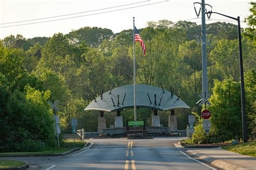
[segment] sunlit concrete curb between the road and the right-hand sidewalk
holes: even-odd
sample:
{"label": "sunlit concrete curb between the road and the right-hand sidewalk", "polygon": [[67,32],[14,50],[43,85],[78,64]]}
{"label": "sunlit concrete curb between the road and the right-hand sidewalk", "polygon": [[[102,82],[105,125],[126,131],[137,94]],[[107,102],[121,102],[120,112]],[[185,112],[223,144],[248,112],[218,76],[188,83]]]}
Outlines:
{"label": "sunlit concrete curb between the road and the right-hand sidewalk", "polygon": [[191,155],[194,159],[198,159],[204,162],[207,162],[208,164],[212,164],[218,168],[221,169],[238,169],[238,170],[245,170],[247,168],[242,168],[238,165],[234,165],[231,164],[230,162],[224,161],[224,160],[220,160],[220,159],[216,159],[216,158],[212,158],[212,157],[208,157],[206,155],[200,154],[198,152],[194,152],[191,150],[185,151],[187,154]]}

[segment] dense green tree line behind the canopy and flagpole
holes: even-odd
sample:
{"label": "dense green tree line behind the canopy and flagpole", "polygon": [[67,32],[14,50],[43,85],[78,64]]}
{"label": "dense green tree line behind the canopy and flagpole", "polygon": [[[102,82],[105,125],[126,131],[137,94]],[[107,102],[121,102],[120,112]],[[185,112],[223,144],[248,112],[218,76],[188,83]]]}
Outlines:
{"label": "dense green tree line behind the canopy and flagpole", "polygon": [[[146,44],[145,57],[140,44],[136,44],[138,84],[159,86],[162,83],[166,90],[173,87],[174,93],[181,92],[180,98],[191,107],[191,110],[176,111],[179,129],[185,129],[187,115],[191,111],[198,112],[196,102],[201,93],[201,46],[194,40],[194,31],[199,28],[200,25],[186,21],[175,24],[167,20],[149,22],[146,28],[139,30]],[[217,135],[220,134],[221,115],[228,113],[228,108],[232,108],[232,113],[228,114],[235,114],[235,120],[230,124],[241,121],[237,26],[217,22],[208,24],[207,29],[214,34],[212,44],[207,46],[207,56],[208,87],[213,94],[212,119]],[[256,48],[255,39],[248,36],[250,30],[245,30],[242,50],[244,71],[248,75],[245,77],[248,128],[252,132],[255,127],[253,92]],[[132,36],[131,29],[114,34],[109,29],[84,27],[67,35],[56,33],[52,37],[31,39],[11,35],[1,40],[0,98],[3,102],[0,124],[5,127],[0,130],[1,149],[22,150],[18,145],[9,146],[10,141],[18,144],[30,140],[31,145],[44,141],[50,146],[55,145],[52,111],[47,104],[49,100],[60,101],[58,114],[63,131],[70,132],[70,119],[74,117],[78,118],[78,128],[97,131],[99,113],[85,112],[84,108],[92,101],[92,94],[99,95],[101,88],[108,91],[112,84],[114,87],[132,84]],[[227,103],[218,99],[227,95],[230,95]],[[122,114],[124,119],[133,117],[129,109]],[[138,110],[139,117],[148,118],[149,125],[151,114],[149,109]],[[159,114],[163,117],[164,126],[167,126],[165,120],[170,112]],[[220,118],[217,118],[218,114]],[[107,126],[113,124],[114,115],[105,113]],[[241,131],[232,131],[228,138],[235,135],[240,137]]]}

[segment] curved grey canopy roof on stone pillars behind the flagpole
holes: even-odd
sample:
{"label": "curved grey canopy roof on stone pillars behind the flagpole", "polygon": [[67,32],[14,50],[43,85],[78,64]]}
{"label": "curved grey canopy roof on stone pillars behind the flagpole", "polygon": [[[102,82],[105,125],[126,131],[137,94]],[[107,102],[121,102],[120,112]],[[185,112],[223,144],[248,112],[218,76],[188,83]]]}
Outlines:
{"label": "curved grey canopy roof on stone pillars behind the flagpole", "polygon": [[[154,94],[156,94],[156,100],[154,99]],[[101,97],[97,97],[96,101],[93,100],[84,110],[114,112],[123,108],[134,107],[133,101],[133,85],[121,86],[113,89],[111,94],[110,91],[105,92],[102,99]],[[136,105],[137,107],[149,107],[160,111],[171,110],[173,108],[190,108],[184,101],[180,98],[178,99],[176,95],[173,94],[172,96],[171,92],[166,90],[163,92],[163,89],[159,87],[142,84],[136,85]]]}

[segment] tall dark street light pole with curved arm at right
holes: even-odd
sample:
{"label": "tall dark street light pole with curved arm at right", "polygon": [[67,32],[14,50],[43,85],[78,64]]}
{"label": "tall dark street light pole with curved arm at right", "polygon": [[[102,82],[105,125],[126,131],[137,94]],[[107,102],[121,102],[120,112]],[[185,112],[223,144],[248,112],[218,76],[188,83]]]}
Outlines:
{"label": "tall dark street light pole with curved arm at right", "polygon": [[240,28],[240,17],[234,18],[231,16],[224,15],[218,12],[205,12],[205,13],[217,13],[219,15],[234,19],[238,22],[238,39],[239,39],[239,63],[240,63],[240,83],[241,83],[241,104],[242,104],[242,136],[244,142],[247,142],[247,125],[246,125],[246,111],[245,111],[245,83],[244,83],[244,67],[242,65],[242,43],[241,43],[241,28]]}

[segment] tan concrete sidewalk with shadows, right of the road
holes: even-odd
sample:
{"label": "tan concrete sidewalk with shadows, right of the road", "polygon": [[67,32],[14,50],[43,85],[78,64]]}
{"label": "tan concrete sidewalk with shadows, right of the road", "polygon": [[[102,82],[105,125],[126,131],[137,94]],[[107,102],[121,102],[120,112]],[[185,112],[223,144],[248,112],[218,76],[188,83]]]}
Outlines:
{"label": "tan concrete sidewalk with shadows, right of the road", "polygon": [[256,157],[226,151],[221,147],[184,148],[194,159],[208,162],[221,169],[256,169]]}

